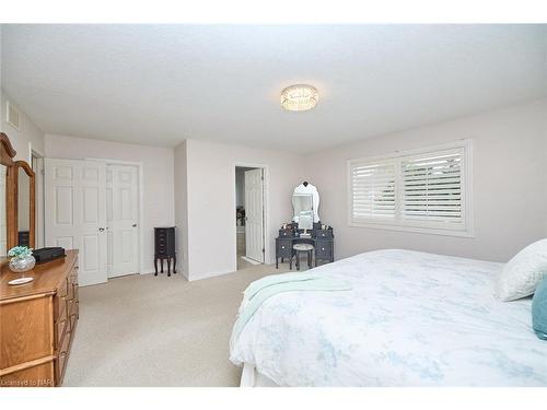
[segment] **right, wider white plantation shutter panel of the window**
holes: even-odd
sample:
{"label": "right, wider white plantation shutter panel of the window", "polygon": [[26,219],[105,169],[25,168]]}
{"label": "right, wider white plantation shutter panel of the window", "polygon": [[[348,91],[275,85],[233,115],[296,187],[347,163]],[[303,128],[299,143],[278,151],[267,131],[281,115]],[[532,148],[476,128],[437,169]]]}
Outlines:
{"label": "right, wider white plantation shutter panel of the window", "polygon": [[463,224],[464,150],[400,159],[400,219]]}

